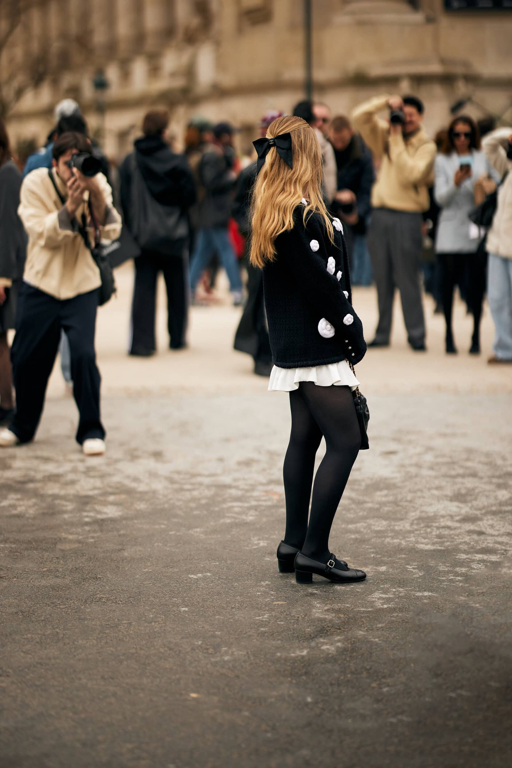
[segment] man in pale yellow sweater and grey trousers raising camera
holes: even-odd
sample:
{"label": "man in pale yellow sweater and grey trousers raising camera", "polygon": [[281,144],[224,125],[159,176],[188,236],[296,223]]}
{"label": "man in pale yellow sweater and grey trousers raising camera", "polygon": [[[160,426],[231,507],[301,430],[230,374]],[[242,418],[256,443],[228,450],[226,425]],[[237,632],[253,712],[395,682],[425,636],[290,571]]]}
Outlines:
{"label": "man in pale yellow sweater and grey trousers raising camera", "polygon": [[[388,120],[378,113],[388,109]],[[393,296],[398,286],[408,342],[426,349],[421,304],[422,214],[429,207],[428,187],[436,146],[421,125],[424,107],[415,96],[382,96],[355,109],[352,118],[381,162],[372,189],[368,248],[378,293],[378,326],[368,346],[388,346]]]}

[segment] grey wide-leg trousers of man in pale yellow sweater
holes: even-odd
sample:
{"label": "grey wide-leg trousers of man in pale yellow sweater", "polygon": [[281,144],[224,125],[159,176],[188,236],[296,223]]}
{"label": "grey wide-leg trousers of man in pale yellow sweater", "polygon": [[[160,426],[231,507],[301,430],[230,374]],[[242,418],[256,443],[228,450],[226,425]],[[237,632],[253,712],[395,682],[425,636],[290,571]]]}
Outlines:
{"label": "grey wide-leg trousers of man in pale yellow sweater", "polygon": [[400,291],[409,343],[424,341],[421,304],[421,214],[375,208],[368,230],[368,250],[378,294],[378,326],[375,340],[388,343],[395,287]]}

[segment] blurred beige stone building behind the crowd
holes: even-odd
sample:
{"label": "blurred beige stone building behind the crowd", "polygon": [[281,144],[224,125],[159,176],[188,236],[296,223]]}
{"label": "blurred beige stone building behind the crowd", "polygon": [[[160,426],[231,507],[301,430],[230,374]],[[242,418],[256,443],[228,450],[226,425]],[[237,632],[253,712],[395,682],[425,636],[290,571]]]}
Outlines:
{"label": "blurred beige stone building behind the crowd", "polygon": [[[112,157],[128,151],[151,105],[170,109],[178,144],[187,119],[201,114],[241,127],[243,148],[264,111],[291,111],[304,94],[302,0],[33,2],[3,52],[2,72],[15,83],[42,56],[48,74],[40,71],[41,83],[8,114],[15,141],[44,141],[55,103],[71,96],[91,129],[104,128]],[[448,12],[443,0],[312,0],[314,95],[346,113],[376,93],[414,91],[434,132],[462,97],[474,98],[466,109],[475,117],[484,114],[475,102],[505,111],[511,43],[512,8]],[[104,94],[93,86],[100,70]],[[507,118],[512,123],[512,108]]]}

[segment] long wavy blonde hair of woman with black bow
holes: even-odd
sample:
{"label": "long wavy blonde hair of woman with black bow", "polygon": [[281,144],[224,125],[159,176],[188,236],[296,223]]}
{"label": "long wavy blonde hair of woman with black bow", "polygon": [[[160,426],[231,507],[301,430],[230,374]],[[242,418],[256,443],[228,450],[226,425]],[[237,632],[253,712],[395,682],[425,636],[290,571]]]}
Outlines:
{"label": "long wavy blonde hair of woman with black bow", "polygon": [[251,201],[251,251],[253,266],[263,268],[276,257],[274,241],[293,228],[293,211],[302,198],[308,201],[302,214],[304,223],[314,211],[325,220],[329,238],[334,242],[332,223],[322,198],[322,150],[312,127],[302,118],[277,118],[266,131],[267,138],[289,132],[292,135],[290,168],[272,147],[256,177]]}

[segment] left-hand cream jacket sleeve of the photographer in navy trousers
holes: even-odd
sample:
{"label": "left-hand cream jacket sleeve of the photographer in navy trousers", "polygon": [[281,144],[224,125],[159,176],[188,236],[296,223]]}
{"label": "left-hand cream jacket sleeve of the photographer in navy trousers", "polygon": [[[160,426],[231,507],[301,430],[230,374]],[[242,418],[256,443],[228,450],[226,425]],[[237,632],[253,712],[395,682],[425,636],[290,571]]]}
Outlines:
{"label": "left-hand cream jacket sleeve of the photographer in navy trousers", "polygon": [[28,236],[41,247],[57,248],[64,240],[80,237],[65,205],[55,210],[38,174],[28,174],[21,184],[18,216]]}

